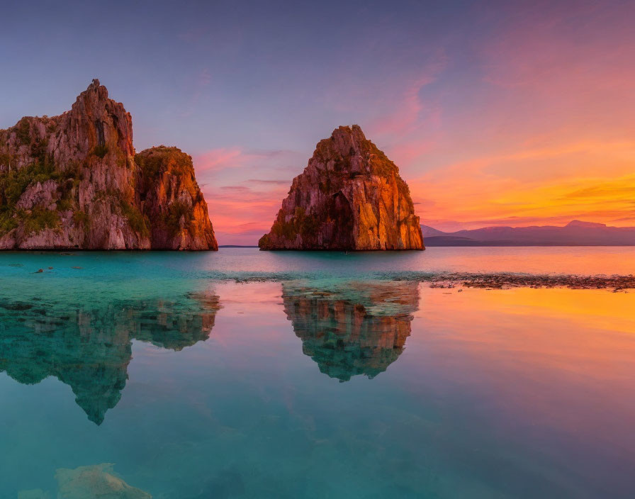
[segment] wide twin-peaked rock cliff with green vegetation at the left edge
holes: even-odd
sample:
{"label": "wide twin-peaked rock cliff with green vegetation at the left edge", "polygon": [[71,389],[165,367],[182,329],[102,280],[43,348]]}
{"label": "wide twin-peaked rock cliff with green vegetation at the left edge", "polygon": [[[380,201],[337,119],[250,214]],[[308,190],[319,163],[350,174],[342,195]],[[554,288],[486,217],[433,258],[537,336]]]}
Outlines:
{"label": "wide twin-peaked rock cliff with green vegetation at the left edge", "polygon": [[0,130],[0,250],[217,250],[191,157],[135,155],[123,104],[93,80],[70,111]]}

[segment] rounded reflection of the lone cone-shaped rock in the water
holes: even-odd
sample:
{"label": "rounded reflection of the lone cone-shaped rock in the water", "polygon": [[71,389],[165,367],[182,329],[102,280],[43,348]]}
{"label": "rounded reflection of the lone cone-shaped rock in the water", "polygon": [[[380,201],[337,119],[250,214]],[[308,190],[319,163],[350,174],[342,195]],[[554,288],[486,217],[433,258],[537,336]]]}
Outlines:
{"label": "rounded reflection of the lone cone-shaped rock in the water", "polygon": [[408,281],[283,284],[284,310],[302,351],[339,381],[370,379],[398,359],[419,305]]}

